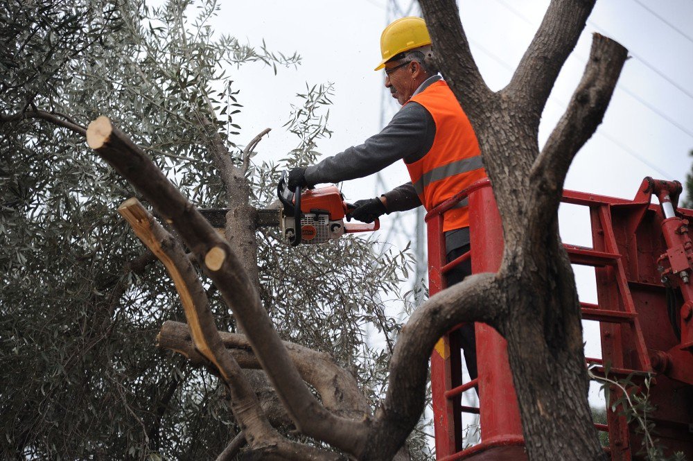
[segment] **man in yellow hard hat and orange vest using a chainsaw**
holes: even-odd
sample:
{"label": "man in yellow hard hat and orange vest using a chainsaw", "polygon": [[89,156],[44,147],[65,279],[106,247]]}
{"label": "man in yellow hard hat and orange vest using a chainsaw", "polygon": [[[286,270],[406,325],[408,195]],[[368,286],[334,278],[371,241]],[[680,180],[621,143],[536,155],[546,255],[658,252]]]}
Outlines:
{"label": "man in yellow hard hat and orange vest using a chainsaw", "polygon": [[[412,182],[378,198],[358,200],[351,217],[365,223],[385,213],[421,205],[430,210],[486,177],[471,124],[453,92],[438,76],[423,19],[404,17],[387,26],[380,37],[380,51],[383,60],[376,71],[385,69],[385,87],[402,105],[401,110],[365,143],[317,165],[294,168],[288,180],[292,189],[353,180],[403,159]],[[443,230],[448,261],[469,250],[466,200],[444,214]],[[448,286],[469,274],[471,262],[467,260],[446,275]],[[474,379],[477,371],[473,325],[463,327],[460,334],[467,368]]]}

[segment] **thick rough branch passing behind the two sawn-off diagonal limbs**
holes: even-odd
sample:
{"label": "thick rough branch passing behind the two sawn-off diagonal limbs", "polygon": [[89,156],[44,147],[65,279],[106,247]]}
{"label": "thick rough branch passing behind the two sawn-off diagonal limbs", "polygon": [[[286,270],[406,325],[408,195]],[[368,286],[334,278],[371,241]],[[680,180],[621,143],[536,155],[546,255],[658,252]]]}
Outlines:
{"label": "thick rough branch passing behind the two sawn-off diagonal limbs", "polygon": [[[260,368],[260,363],[250,351],[245,335],[220,331],[222,342],[243,368]],[[324,406],[338,414],[360,418],[370,413],[368,401],[358,388],[353,376],[337,367],[328,354],[284,341],[289,356],[301,378],[317,390]],[[157,336],[157,347],[183,354],[193,365],[207,365],[207,360],[195,350],[188,325],[167,321]]]}

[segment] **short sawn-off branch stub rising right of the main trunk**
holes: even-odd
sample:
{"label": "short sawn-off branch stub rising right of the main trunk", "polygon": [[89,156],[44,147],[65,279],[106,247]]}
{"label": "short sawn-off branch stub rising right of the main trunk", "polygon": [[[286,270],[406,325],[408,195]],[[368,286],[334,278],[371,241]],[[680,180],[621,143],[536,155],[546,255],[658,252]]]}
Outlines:
{"label": "short sawn-off branch stub rising right of the main trunk", "polygon": [[[627,56],[628,50],[618,42],[598,33],[593,35],[592,51],[582,79],[532,166],[532,182],[542,184],[537,190],[545,196],[538,206],[533,207],[537,212],[535,223],[541,221],[542,216],[552,216],[558,207],[568,168],[602,123]],[[541,205],[542,202],[546,205]],[[547,211],[548,206],[552,208],[550,211]],[[542,223],[537,225],[544,226]]]}

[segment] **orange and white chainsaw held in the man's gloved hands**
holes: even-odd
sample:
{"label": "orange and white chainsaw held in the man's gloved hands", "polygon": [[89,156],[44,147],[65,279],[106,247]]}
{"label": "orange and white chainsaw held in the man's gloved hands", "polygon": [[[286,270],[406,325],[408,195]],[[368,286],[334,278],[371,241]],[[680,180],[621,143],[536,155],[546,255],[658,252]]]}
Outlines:
{"label": "orange and white chainsaw held in the man's gloved hands", "polygon": [[[283,236],[292,246],[317,245],[340,238],[344,234],[372,232],[380,229],[380,221],[372,225],[344,223],[349,219],[353,205],[344,201],[337,186],[325,186],[301,191],[289,189],[286,171],[281,173],[277,184],[279,207],[258,209],[257,227],[281,229]],[[224,227],[226,214],[223,208],[200,209],[214,227]]]}

